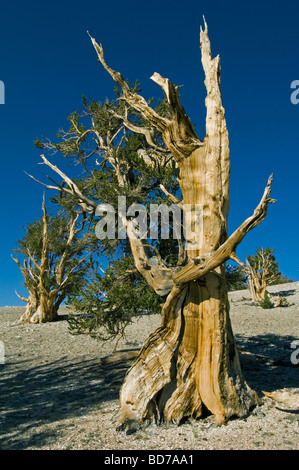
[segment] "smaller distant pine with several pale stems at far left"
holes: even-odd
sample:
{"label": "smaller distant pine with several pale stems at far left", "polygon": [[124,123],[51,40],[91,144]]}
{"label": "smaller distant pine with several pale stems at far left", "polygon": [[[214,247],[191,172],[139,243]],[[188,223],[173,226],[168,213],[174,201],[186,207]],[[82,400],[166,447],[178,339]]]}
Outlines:
{"label": "smaller distant pine with several pale stems at far left", "polygon": [[[43,200],[43,216],[26,227],[17,242],[13,260],[19,266],[28,297],[16,294],[26,302],[22,323],[44,323],[57,319],[58,308],[68,295],[82,289],[86,274],[86,237],[79,237],[82,225],[76,226],[79,214],[48,216]],[[23,257],[23,264],[19,256]],[[76,291],[75,291],[76,289]]]}

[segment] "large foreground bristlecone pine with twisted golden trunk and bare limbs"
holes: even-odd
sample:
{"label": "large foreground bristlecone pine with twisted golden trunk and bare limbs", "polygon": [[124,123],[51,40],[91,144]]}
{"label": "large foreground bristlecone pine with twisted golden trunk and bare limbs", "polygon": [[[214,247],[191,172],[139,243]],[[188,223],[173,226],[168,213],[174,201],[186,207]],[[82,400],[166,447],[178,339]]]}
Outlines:
{"label": "large foreground bristlecone pine with twisted golden trunk and bare limbs", "polygon": [[[185,240],[183,248],[179,244],[178,262],[172,264],[166,263],[157,246],[149,247],[148,240],[136,238],[132,218],[122,220],[135,266],[164,304],[161,326],[147,339],[125,377],[118,426],[120,429],[134,427],[150,420],[179,423],[186,417],[198,418],[207,410],[215,415],[217,423],[231,416],[245,416],[259,399],[241,372],[229,318],[225,262],[237,260],[239,243],[266,217],[268,204],[274,202],[270,198],[272,177],[253,214],[228,236],[229,140],[220,91],[220,59],[212,58],[206,23],[200,33],[207,89],[204,140],[195,133],[181,105],[178,87],[154,73],[151,79],[165,95],[163,112],[158,112],[136,88],[130,88],[120,73],[107,65],[102,46],[91,39],[100,63],[120,88],[119,99],[114,108],[94,107],[90,112],[90,129],[80,127],[73,119],[71,134],[62,135],[61,146],[52,149],[55,147],[66,156],[73,151],[81,158],[79,146],[92,138],[96,148],[88,157],[94,154],[101,157],[95,169],[104,172],[109,168],[114,172],[111,181],[116,194],[130,194],[132,200],[134,194],[140,196],[142,187],[146,188],[138,173],[141,159],[144,171],[170,169],[176,174],[180,202],[177,194],[171,194],[159,179],[155,181],[171,201],[180,207],[182,203],[184,207],[190,205],[194,226],[197,226],[195,204],[202,208],[200,243],[193,248],[188,245],[192,240]],[[111,116],[105,135],[99,126],[104,110]],[[121,131],[123,138],[115,145]],[[132,143],[129,133],[135,135],[135,143],[140,145],[139,160],[135,159],[138,171],[124,152],[125,144]],[[135,147],[135,154],[136,150]],[[68,191],[84,210],[94,213],[99,201],[89,197],[78,182],[72,181],[44,155],[42,159],[63,179],[56,189]],[[140,191],[130,192],[131,180],[137,173],[139,186],[135,189]],[[111,188],[110,184],[110,191]],[[155,184],[148,185],[147,194],[155,189]],[[96,189],[93,194],[96,195]]]}

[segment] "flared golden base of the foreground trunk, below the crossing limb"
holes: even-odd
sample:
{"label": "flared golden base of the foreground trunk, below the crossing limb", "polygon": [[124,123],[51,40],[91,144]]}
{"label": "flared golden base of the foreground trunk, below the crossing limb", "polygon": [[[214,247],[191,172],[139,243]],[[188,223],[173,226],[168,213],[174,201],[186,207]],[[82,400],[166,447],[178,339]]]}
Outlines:
{"label": "flared golden base of the foreground trunk, below the crossing limb", "polygon": [[241,373],[220,276],[210,273],[173,289],[162,325],[128,372],[120,400],[120,428],[146,420],[178,423],[207,410],[222,423],[257,404]]}

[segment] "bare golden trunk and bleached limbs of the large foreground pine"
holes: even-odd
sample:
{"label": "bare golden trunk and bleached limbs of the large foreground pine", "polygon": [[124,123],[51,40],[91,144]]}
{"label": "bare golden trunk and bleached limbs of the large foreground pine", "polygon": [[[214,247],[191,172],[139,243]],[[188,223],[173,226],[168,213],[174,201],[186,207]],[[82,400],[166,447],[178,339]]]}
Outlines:
{"label": "bare golden trunk and bleached limbs of the large foreground pine", "polygon": [[[258,403],[240,368],[229,320],[224,263],[236,256],[238,244],[265,218],[268,204],[274,202],[270,198],[272,177],[253,215],[228,237],[229,139],[220,91],[220,58],[212,58],[206,22],[200,41],[207,89],[204,141],[182,108],[178,87],[158,73],[151,77],[163,89],[172,117],[158,116],[107,65],[102,46],[92,38],[99,61],[121,87],[122,98],[161,132],[180,169],[183,203],[203,208],[203,240],[187,252],[186,265],[173,270],[174,285],[162,309],[161,327],[148,338],[125,378],[120,428],[151,419],[179,422],[186,416],[201,416],[204,409],[221,423],[232,415],[246,415]],[[138,267],[136,254],[133,250]]]}

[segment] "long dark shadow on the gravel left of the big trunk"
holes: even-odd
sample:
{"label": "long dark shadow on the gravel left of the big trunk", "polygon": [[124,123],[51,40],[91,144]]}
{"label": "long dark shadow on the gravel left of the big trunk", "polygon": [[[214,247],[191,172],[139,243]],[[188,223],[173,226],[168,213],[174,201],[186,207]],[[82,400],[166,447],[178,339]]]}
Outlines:
{"label": "long dark shadow on the gravel left of the big trunk", "polygon": [[[0,449],[25,449],[53,439],[52,432],[34,434],[40,425],[99,409],[118,399],[120,386],[137,351],[107,358],[78,357],[40,366],[31,361],[1,365]],[[30,442],[25,438],[30,430]]]}

